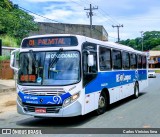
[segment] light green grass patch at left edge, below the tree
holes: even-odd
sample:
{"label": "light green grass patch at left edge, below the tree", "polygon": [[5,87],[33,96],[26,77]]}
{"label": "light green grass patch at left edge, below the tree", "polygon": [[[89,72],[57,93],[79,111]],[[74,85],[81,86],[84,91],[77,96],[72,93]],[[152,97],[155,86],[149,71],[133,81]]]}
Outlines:
{"label": "light green grass patch at left edge, below the tree", "polygon": [[19,47],[17,44],[17,40],[13,37],[7,35],[1,35],[0,39],[2,39],[2,46]]}

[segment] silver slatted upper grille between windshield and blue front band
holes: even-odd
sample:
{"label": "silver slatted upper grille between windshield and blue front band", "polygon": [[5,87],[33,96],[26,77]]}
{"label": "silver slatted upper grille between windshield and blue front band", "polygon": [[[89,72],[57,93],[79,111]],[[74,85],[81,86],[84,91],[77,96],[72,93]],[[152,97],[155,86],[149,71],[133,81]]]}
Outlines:
{"label": "silver slatted upper grille between windshield and blue front band", "polygon": [[66,92],[62,88],[25,89],[23,93],[36,96],[60,96]]}

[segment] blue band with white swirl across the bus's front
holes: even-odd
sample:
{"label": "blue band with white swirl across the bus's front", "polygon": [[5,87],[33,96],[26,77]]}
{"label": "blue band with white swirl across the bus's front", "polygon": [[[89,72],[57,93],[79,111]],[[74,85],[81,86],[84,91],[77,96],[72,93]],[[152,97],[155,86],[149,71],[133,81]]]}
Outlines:
{"label": "blue band with white swirl across the bus's front", "polygon": [[23,103],[29,104],[63,104],[63,101],[71,96],[70,93],[66,93],[60,96],[38,96],[38,95],[28,95],[23,92],[18,92],[19,97],[22,99]]}

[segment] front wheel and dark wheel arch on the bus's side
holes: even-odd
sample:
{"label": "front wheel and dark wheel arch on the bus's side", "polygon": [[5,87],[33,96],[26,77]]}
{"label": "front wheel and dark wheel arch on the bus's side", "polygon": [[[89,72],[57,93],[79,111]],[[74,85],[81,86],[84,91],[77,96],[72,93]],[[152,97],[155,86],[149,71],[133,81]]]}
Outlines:
{"label": "front wheel and dark wheel arch on the bus's side", "polygon": [[96,110],[96,114],[101,115],[105,113],[108,109],[109,103],[110,103],[109,91],[107,88],[104,88],[99,96],[98,109]]}

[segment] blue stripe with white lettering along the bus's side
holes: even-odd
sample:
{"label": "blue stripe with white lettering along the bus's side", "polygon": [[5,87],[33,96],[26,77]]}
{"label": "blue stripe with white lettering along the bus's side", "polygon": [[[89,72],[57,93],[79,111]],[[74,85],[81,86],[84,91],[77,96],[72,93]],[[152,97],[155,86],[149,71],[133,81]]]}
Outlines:
{"label": "blue stripe with white lettering along the bus's side", "polygon": [[103,88],[114,88],[146,79],[147,70],[99,72],[97,77],[85,87],[85,93],[89,94]]}

